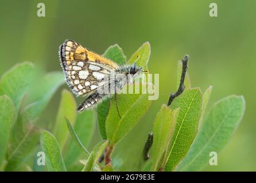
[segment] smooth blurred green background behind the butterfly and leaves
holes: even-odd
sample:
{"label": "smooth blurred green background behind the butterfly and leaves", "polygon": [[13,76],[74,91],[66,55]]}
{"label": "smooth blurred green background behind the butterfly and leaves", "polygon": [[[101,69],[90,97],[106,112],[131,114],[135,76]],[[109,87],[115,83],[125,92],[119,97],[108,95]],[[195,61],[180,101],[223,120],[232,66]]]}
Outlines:
{"label": "smooth blurred green background behind the butterfly and leaves", "polygon": [[[37,17],[39,2],[45,3],[46,17]],[[218,17],[209,16],[211,2],[218,4]],[[127,58],[149,41],[149,70],[160,74],[160,98],[114,153],[115,162],[125,162],[123,170],[133,170],[156,113],[176,89],[176,63],[189,54],[192,86],[203,92],[213,86],[209,106],[230,94],[246,99],[245,117],[219,154],[218,166],[205,170],[256,170],[255,7],[251,0],[1,1],[0,74],[22,61],[61,71],[58,51],[65,39],[100,54],[118,43]],[[61,89],[41,115],[42,126],[55,121]],[[99,138],[97,131],[91,146]]]}

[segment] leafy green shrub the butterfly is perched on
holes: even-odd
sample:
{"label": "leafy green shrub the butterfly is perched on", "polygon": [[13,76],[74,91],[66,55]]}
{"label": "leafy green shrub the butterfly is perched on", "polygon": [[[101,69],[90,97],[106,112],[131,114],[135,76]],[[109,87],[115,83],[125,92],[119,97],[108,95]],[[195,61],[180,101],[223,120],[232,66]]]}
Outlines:
{"label": "leafy green shrub the butterfly is perched on", "polygon": [[[105,57],[119,64],[131,64],[137,55],[140,55],[138,65],[147,69],[150,57],[148,42],[127,62],[118,45],[110,46],[104,53]],[[181,69],[182,63],[178,62],[178,78]],[[125,166],[122,162],[116,167],[111,165],[111,155],[118,142],[150,108],[148,95],[118,94],[122,116],[119,118],[114,101],[110,99],[103,101],[97,109],[77,114],[73,94],[63,90],[56,123],[46,131],[38,128],[34,121],[40,117],[59,86],[63,85],[64,75],[53,72],[41,77],[40,85],[36,86],[37,92],[33,92],[33,101],[25,105],[25,94],[35,89],[32,85],[34,70],[32,63],[24,62],[15,65],[1,78],[0,170],[113,171]],[[170,106],[163,104],[159,109],[154,120],[152,150],[148,152],[151,144],[146,144],[138,162],[139,170],[201,170],[208,163],[209,153],[219,153],[242,120],[245,112],[242,96],[223,98],[205,116],[212,87],[201,93],[199,87],[191,87],[188,74],[184,83],[187,86],[185,91],[174,98]],[[96,121],[103,140],[89,152],[87,147]],[[45,153],[46,169],[37,166],[38,157],[34,154],[40,151]],[[148,153],[149,160],[143,160]],[[102,154],[105,161],[99,162]]]}

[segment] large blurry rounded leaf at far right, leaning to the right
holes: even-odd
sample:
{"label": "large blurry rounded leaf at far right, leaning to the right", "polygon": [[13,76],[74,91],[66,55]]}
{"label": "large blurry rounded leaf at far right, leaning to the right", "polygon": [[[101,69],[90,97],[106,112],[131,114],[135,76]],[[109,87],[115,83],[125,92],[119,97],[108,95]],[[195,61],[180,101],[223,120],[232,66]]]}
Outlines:
{"label": "large blurry rounded leaf at far right, leaning to the right", "polygon": [[243,96],[228,96],[216,102],[196,136],[179,171],[199,171],[210,160],[210,152],[219,153],[234,134],[245,113]]}

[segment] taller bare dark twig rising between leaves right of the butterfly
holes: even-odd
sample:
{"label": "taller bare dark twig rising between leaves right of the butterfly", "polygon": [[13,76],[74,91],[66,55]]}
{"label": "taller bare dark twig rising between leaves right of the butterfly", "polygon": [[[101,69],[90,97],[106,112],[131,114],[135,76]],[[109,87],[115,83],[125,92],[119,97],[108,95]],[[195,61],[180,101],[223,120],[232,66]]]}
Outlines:
{"label": "taller bare dark twig rising between leaves right of the butterfly", "polygon": [[185,57],[182,60],[182,73],[181,73],[181,77],[180,77],[180,86],[176,93],[170,94],[170,98],[169,98],[167,106],[172,104],[172,101],[174,100],[174,98],[178,97],[185,90],[184,81],[185,81],[185,76],[186,76],[186,73],[188,70],[188,59],[189,59],[189,55],[185,55]]}

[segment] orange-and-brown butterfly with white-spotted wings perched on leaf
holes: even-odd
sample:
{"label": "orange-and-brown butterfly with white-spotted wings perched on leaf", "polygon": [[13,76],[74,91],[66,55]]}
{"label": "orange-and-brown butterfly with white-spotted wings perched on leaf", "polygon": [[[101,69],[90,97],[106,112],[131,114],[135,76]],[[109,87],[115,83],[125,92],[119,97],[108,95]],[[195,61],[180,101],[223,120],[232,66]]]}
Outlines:
{"label": "orange-and-brown butterfly with white-spotted wings perched on leaf", "polygon": [[86,96],[77,112],[91,109],[104,98],[111,97],[113,90],[116,100],[116,93],[129,82],[126,76],[136,77],[145,72],[136,61],[134,65],[120,66],[71,40],[60,45],[59,57],[67,85],[76,96]]}

